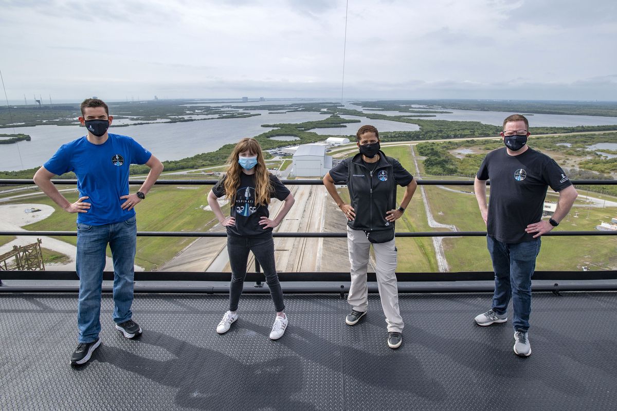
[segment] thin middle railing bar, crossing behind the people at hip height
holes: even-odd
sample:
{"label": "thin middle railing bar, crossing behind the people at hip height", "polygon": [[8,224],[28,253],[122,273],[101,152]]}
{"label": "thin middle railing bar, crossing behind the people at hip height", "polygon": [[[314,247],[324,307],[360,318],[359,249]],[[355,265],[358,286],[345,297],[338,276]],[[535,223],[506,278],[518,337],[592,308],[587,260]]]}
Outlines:
{"label": "thin middle railing bar, crossing behind the people at hip height", "polygon": [[[77,237],[76,231],[0,231],[0,235],[54,235],[57,237]],[[344,232],[273,232],[273,237],[280,238],[346,238]],[[596,235],[617,235],[616,230],[610,231],[552,231],[542,235],[551,236],[596,236]],[[225,232],[201,232],[201,231],[138,231],[138,237],[227,237]],[[486,231],[422,231],[422,232],[399,232],[396,237],[486,237]]]}

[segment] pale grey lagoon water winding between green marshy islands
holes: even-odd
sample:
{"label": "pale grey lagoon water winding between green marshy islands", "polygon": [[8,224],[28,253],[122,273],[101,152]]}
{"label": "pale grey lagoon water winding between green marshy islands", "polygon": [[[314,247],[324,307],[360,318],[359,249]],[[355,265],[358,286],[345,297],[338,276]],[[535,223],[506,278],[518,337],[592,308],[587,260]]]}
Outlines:
{"label": "pale grey lagoon water winding between green marshy islands", "polygon": [[[328,102],[326,99],[304,99],[304,100],[273,100],[265,102],[229,102],[219,104],[202,105],[273,105],[273,104],[294,104],[300,102]],[[346,108],[359,110],[360,107],[345,104]],[[414,106],[415,107],[415,106]],[[427,119],[440,120],[468,120],[480,121],[486,124],[502,124],[503,118],[511,113],[504,112],[474,112],[471,110],[449,110],[453,114],[439,114],[437,117]],[[369,113],[376,113],[370,112]],[[232,118],[205,121],[191,121],[188,123],[164,123],[155,121],[150,124],[129,125],[126,127],[110,128],[110,132],[124,134],[137,140],[146,149],[160,160],[180,160],[181,158],[191,157],[198,153],[211,152],[219,149],[225,144],[233,144],[243,137],[254,137],[271,128],[264,128],[262,124],[277,123],[303,123],[305,121],[316,121],[326,118],[326,114],[317,112],[278,112],[268,113],[268,110],[252,110],[246,113],[260,113],[259,116],[249,118]],[[384,114],[384,112],[382,112]],[[400,115],[405,113],[386,112],[387,114]],[[188,117],[199,115],[187,114]],[[360,123],[349,123],[344,128],[313,129],[311,131],[320,135],[333,136],[355,136],[355,132],[360,126],[372,124],[379,131],[415,131],[419,127],[416,124],[399,123],[387,120],[369,120],[358,116],[342,116],[346,119],[360,120]],[[135,120],[118,120],[116,124],[131,124]],[[533,115],[529,116],[532,126],[577,126],[577,125],[602,125],[617,124],[617,118],[597,117],[597,116],[569,116],[569,115]],[[119,125],[118,124],[118,125]],[[85,129],[80,126],[56,126],[44,125],[36,127],[19,127],[0,129],[1,133],[24,133],[30,134],[31,141],[22,141],[17,144],[0,145],[2,163],[0,170],[15,171],[20,169],[33,168],[43,165],[60,147],[60,145],[83,136]],[[611,149],[610,147],[599,147],[598,149]]]}

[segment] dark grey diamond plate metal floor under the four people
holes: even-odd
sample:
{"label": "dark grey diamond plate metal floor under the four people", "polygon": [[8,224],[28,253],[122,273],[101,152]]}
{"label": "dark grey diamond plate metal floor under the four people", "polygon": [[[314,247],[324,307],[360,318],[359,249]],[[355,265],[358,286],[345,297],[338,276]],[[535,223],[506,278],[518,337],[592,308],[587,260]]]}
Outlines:
{"label": "dark grey diamond plate metal floor under the four people", "polygon": [[103,343],[72,368],[75,295],[0,295],[2,410],[615,410],[617,294],[534,294],[531,357],[511,322],[478,327],[490,295],[402,295],[404,343],[386,346],[378,297],[349,327],[334,295],[289,295],[270,341],[269,296],[242,296],[226,335],[221,295],[136,295],[136,341],[104,296]]}

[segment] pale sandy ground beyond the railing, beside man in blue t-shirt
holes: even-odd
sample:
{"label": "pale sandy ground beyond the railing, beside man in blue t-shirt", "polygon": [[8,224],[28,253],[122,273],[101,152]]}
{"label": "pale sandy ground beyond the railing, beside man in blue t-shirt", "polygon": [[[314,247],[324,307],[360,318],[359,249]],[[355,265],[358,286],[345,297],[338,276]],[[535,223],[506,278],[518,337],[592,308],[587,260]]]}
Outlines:
{"label": "pale sandy ground beyond the railing, beside man in blue t-shirt", "polygon": [[[41,211],[35,213],[25,213],[27,208],[38,208]],[[0,205],[0,230],[2,231],[25,231],[23,226],[38,222],[48,218],[54,212],[54,208],[49,205],[36,203],[22,203],[11,205]],[[67,255],[71,260],[65,264],[45,264],[45,269],[49,271],[75,271],[75,255],[77,247],[64,241],[51,237],[17,237],[12,242],[0,246],[0,254],[7,253],[13,249],[14,245],[23,246],[36,242],[36,238],[41,238],[41,246],[49,250]],[[105,271],[114,271],[112,259],[107,257]],[[135,266],[135,271],[143,271],[142,267]]]}

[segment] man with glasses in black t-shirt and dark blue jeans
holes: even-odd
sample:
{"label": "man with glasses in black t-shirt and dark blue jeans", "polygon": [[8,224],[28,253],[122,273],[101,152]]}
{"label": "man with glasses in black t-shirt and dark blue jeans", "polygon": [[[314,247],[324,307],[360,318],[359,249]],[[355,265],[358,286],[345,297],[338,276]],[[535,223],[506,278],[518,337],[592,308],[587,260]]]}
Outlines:
{"label": "man with glasses in black t-shirt and dark blue jeans", "polygon": [[[529,123],[522,115],[503,121],[505,147],[486,155],[474,181],[474,191],[486,223],[487,246],[495,271],[492,308],[474,320],[478,325],[506,322],[510,296],[514,311],[514,352],[529,356],[531,276],[540,252],[540,236],[557,227],[578,193],[552,158],[529,148]],[[486,181],[491,198],[486,204]],[[547,188],[559,192],[552,218],[542,220]]]}

